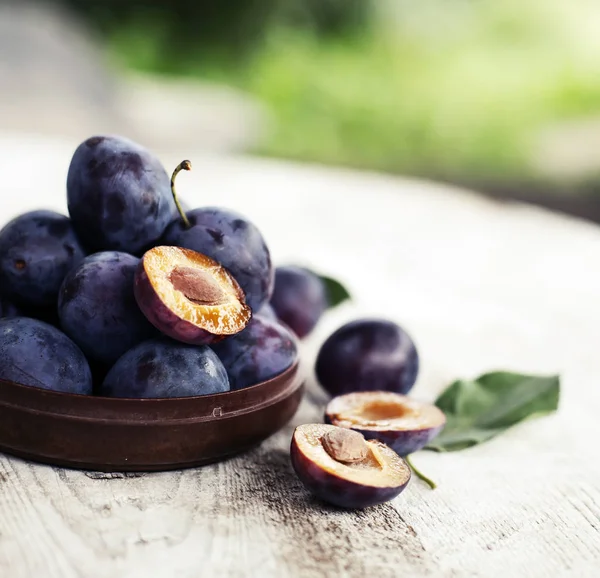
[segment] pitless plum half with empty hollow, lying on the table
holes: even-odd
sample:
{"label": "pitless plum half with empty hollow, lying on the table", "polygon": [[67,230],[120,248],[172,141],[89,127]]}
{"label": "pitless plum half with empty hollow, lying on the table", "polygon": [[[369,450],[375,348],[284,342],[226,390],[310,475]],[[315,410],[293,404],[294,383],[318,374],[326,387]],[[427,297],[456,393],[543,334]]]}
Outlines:
{"label": "pitless plum half with empty hollow, lying on the table", "polygon": [[419,451],[436,437],[446,416],[435,405],[389,391],[362,391],[333,398],[325,421],[377,439],[401,456]]}

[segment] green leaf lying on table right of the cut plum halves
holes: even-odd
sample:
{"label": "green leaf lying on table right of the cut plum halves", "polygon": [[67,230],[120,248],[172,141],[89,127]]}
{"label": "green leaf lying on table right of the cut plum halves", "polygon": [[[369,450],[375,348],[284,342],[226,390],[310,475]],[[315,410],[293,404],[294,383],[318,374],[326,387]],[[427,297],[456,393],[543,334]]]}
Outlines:
{"label": "green leaf lying on table right of the cut plum halves", "polygon": [[425,449],[463,450],[483,443],[511,426],[558,408],[558,375],[486,373],[474,381],[452,383],[436,400],[446,426]]}

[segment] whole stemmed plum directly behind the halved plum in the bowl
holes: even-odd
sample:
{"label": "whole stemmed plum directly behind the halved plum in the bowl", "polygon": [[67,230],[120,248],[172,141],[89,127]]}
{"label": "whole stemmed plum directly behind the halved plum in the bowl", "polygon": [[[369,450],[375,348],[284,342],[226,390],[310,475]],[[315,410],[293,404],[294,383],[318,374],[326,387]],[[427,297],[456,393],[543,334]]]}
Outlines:
{"label": "whole stemmed plum directly behind the halved plum in the bowl", "polygon": [[162,243],[192,249],[221,263],[239,283],[246,303],[257,311],[271,297],[273,267],[260,231],[242,215],[208,207],[186,213],[165,231]]}

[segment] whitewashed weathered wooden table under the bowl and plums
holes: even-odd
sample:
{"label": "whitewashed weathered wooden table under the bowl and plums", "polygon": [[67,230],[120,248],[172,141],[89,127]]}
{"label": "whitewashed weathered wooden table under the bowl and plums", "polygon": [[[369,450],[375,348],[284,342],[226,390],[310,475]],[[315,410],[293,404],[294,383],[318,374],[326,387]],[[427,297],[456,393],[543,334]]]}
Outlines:
{"label": "whitewashed weathered wooden table under the bowl and plums", "polygon": [[[76,144],[0,140],[4,218],[65,210]],[[276,262],[351,288],[304,345],[309,369],[335,327],[379,315],[417,342],[415,396],[492,369],[560,372],[560,410],[471,450],[416,455],[439,488],[414,479],[363,512],[316,503],[290,467],[293,427],[322,415],[312,378],[284,431],[221,464],[106,475],[0,456],[0,576],[600,575],[600,229],[425,182],[189,156],[188,201],[246,213]]]}

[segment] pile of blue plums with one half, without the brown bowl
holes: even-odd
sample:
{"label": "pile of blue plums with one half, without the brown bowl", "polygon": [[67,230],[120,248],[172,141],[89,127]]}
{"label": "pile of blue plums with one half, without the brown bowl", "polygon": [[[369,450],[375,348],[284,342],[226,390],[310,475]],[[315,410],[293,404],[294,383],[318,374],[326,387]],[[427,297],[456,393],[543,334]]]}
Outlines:
{"label": "pile of blue plums with one half, without the brown bowl", "polygon": [[[275,271],[260,231],[223,208],[184,212],[174,178],[189,168],[170,178],[137,143],[94,136],[71,159],[69,216],[38,210],[4,226],[0,379],[181,397],[247,387],[294,363],[297,336],[269,305]],[[302,333],[311,320],[288,322]]]}

